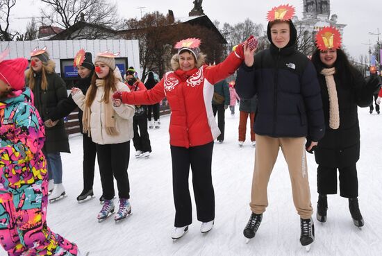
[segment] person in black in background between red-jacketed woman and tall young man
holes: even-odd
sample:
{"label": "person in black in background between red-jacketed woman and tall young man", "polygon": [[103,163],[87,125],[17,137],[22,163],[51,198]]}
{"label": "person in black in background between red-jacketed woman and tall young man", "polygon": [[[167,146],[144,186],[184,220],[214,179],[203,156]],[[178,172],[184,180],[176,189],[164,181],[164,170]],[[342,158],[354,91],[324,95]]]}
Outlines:
{"label": "person in black in background between red-jacketed woman and tall young man", "polygon": [[220,135],[217,136],[217,141],[220,143],[224,141],[225,112],[231,103],[229,94],[229,85],[225,79],[214,85],[212,101],[213,116],[216,118],[217,113],[217,127],[219,127],[220,130]]}

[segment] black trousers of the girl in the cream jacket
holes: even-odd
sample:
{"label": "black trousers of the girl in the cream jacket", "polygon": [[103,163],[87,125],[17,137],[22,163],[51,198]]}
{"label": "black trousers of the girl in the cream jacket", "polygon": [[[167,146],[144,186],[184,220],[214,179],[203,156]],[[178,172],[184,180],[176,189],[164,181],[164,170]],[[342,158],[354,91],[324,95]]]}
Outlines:
{"label": "black trousers of the girl in the cream jacket", "polygon": [[128,182],[128,161],[130,160],[130,141],[119,144],[97,144],[97,158],[103,197],[111,200],[115,196],[114,182],[117,180],[119,198],[130,198]]}

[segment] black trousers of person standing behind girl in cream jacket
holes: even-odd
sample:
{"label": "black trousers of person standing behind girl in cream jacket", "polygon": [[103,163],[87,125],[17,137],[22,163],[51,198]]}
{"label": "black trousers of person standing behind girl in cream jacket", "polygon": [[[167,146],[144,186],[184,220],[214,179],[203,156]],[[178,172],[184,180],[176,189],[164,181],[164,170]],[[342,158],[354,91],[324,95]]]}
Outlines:
{"label": "black trousers of person standing behind girl in cream jacket", "polygon": [[95,156],[97,154],[97,146],[92,141],[92,138],[86,134],[83,134],[83,189],[93,189],[94,182],[94,164]]}

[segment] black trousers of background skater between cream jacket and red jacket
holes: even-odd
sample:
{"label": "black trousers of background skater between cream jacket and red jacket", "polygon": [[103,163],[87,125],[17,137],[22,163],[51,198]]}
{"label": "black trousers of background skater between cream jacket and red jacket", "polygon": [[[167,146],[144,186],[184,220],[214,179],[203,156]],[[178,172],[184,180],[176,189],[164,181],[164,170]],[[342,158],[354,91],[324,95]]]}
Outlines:
{"label": "black trousers of background skater between cream jacket and red jacket", "polygon": [[150,137],[147,132],[146,115],[144,115],[144,117],[133,118],[133,130],[133,144],[135,151],[151,152]]}

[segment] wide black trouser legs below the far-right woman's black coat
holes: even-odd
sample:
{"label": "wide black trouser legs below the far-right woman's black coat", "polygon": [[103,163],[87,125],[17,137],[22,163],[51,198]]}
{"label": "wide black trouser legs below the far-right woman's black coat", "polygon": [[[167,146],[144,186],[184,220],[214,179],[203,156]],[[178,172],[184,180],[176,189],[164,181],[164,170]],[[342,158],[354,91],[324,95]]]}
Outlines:
{"label": "wide black trouser legs below the far-right woman's black coat", "polygon": [[[346,198],[358,197],[358,178],[356,164],[350,167],[338,168],[340,180],[340,196]],[[337,194],[337,168],[317,168],[317,192],[319,194]]]}

